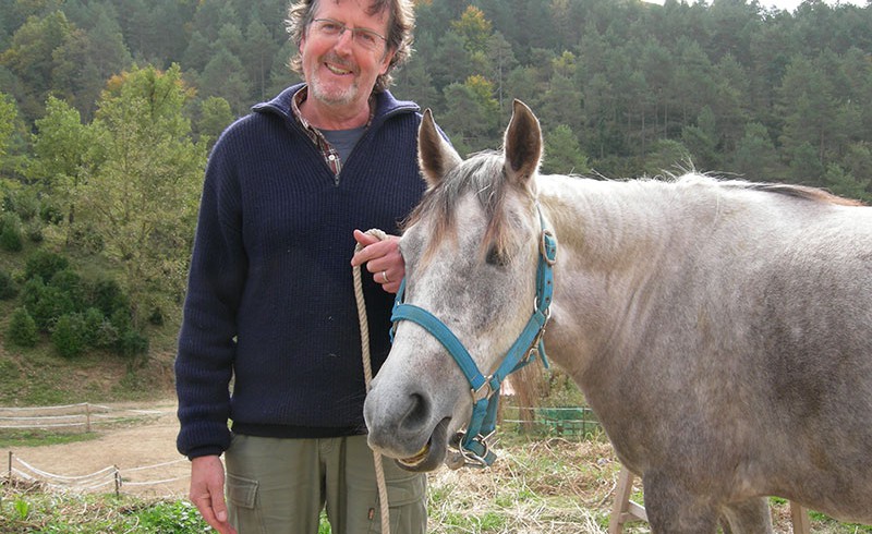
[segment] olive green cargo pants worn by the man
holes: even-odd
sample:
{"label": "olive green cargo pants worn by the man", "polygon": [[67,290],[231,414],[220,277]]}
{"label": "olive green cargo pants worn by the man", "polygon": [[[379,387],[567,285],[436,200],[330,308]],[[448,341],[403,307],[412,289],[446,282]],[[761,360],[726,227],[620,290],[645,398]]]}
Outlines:
{"label": "olive green cargo pants worn by the man", "polygon": [[[225,453],[230,522],[240,534],[317,534],[326,508],[332,534],[382,533],[366,436],[279,439],[234,435]],[[390,532],[427,529],[426,476],[384,459]]]}

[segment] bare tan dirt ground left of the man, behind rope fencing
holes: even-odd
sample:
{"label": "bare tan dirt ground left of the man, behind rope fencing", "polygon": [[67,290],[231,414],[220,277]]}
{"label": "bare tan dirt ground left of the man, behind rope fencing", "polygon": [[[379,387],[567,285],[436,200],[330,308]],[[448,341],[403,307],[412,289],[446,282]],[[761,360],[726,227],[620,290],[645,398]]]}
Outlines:
{"label": "bare tan dirt ground left of the man, behind rope fencing", "polygon": [[[142,404],[114,406],[143,409]],[[36,470],[66,477],[89,475],[114,465],[121,475],[123,493],[144,497],[183,497],[187,493],[190,464],[175,450],[179,423],[174,400],[156,402],[147,409],[160,413],[121,428],[98,428],[100,437],[97,439],[45,447],[17,447],[11,452],[15,460]],[[29,471],[15,460],[13,469]],[[4,458],[3,472],[8,469],[5,463]],[[114,490],[114,483],[108,483],[105,478],[96,484],[100,486],[92,490]]]}

